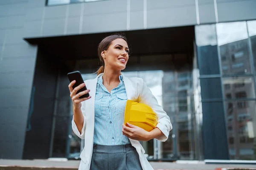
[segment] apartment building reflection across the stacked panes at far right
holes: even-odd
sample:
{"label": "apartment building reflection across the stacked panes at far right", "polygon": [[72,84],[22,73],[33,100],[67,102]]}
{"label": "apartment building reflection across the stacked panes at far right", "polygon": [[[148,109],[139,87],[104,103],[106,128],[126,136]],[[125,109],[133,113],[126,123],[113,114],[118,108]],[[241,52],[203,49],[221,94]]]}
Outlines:
{"label": "apartment building reflection across the stacked panes at far right", "polygon": [[[220,54],[224,75],[251,73],[247,39],[221,45]],[[224,97],[230,100],[226,102],[230,156],[233,159],[256,159],[255,102],[245,100],[255,98],[253,78],[224,78],[223,85]]]}

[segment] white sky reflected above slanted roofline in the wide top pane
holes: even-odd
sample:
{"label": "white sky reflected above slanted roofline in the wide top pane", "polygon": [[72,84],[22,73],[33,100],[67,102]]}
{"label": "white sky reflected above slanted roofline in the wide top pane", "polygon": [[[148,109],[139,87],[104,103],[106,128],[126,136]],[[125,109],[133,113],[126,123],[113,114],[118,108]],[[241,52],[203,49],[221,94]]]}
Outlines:
{"label": "white sky reflected above slanted roofline in the wide top pane", "polygon": [[216,24],[218,45],[248,38],[246,22]]}

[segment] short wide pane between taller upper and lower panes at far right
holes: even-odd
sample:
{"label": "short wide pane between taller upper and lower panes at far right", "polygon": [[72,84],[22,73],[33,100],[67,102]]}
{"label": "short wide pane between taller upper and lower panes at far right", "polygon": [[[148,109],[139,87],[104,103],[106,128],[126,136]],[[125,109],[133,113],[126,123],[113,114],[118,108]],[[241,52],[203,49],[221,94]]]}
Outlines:
{"label": "short wide pane between taller upper and lower panes at far right", "polygon": [[253,77],[223,78],[226,99],[255,98]]}

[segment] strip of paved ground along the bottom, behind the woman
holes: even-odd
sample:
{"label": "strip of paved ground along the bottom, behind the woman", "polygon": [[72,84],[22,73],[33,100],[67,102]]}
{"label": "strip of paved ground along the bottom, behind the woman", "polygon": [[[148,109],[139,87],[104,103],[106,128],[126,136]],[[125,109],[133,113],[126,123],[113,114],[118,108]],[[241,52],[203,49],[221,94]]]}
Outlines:
{"label": "strip of paved ground along the bottom, behind the woman", "polygon": [[[254,164],[205,164],[204,161],[189,163],[150,162],[155,170],[217,170],[221,167],[254,168]],[[0,159],[0,170],[77,170],[79,161],[6,160]]]}

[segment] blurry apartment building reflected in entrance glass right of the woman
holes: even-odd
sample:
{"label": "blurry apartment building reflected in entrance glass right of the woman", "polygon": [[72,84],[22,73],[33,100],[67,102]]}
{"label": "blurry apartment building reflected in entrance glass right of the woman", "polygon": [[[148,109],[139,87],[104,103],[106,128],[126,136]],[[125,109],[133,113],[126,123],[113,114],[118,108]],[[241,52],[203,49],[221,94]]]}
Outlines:
{"label": "blurry apartment building reflected in entrance glass right of the woman", "polygon": [[[163,108],[176,126],[172,134],[175,136],[173,142],[177,144],[175,154],[180,159],[195,159],[193,133],[195,111],[192,93],[192,71],[164,72]],[[173,150],[166,148],[164,152],[172,153]]]}

